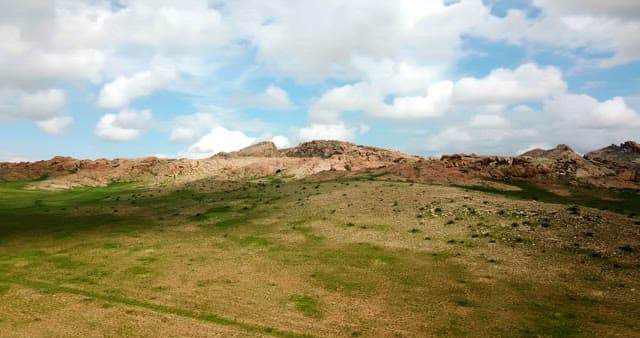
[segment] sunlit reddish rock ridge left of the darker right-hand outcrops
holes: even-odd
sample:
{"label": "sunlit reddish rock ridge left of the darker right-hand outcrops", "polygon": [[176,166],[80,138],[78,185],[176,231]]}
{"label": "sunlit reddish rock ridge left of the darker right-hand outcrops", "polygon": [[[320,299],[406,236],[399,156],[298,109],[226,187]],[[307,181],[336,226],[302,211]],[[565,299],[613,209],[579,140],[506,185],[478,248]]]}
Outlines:
{"label": "sunlit reddish rock ridge left of the darker right-hand outcrops", "polygon": [[141,159],[78,160],[54,157],[32,163],[0,163],[0,181],[34,181],[39,186],[105,185],[116,181],[184,182],[202,178],[241,180],[274,175],[297,178],[323,171],[360,171],[418,158],[397,151],[339,141],[314,141],[278,150],[261,142],[203,160]]}

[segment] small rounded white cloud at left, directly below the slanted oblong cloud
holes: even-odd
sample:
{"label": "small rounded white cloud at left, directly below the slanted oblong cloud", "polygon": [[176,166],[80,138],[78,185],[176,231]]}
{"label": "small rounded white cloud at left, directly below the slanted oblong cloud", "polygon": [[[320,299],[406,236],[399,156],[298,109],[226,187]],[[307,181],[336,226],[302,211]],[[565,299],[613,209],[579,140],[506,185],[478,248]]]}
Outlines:
{"label": "small rounded white cloud at left, directly below the slanted oblong cloud", "polygon": [[149,110],[125,109],[117,114],[105,114],[96,125],[96,135],[106,141],[131,141],[150,127],[152,119]]}

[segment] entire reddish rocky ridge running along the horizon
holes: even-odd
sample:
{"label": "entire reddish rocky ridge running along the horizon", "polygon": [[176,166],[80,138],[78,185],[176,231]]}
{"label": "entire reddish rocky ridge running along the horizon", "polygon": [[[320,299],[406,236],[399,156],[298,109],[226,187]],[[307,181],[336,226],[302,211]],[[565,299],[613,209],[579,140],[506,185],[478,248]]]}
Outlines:
{"label": "entire reddish rocky ridge running along the horizon", "polygon": [[116,181],[166,184],[203,178],[244,180],[272,175],[290,178],[379,175],[441,184],[517,178],[640,189],[640,146],[629,141],[581,156],[561,144],[516,157],[454,154],[427,159],[341,141],[311,141],[288,149],[261,142],[202,160],[54,157],[31,163],[0,163],[1,181],[28,180],[44,187],[104,185]]}

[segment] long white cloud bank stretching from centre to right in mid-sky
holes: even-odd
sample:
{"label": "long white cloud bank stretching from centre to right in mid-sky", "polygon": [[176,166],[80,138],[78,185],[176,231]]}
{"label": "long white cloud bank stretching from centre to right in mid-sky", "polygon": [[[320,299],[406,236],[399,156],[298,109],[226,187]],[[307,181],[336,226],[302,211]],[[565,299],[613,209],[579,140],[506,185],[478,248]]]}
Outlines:
{"label": "long white cloud bank stretching from centre to right in mid-sky", "polygon": [[[388,79],[397,79],[395,74]],[[379,81],[379,82],[378,82]],[[504,105],[534,102],[566,92],[562,72],[555,67],[527,63],[516,69],[498,68],[483,78],[465,77],[458,81],[429,81],[421,78],[406,93],[397,95],[385,88],[383,79],[343,85],[325,92],[310,107],[313,122],[331,124],[348,111],[361,111],[375,118],[415,120],[440,117],[459,106],[502,110]],[[419,93],[422,90],[425,94]],[[394,96],[386,103],[388,96]]]}

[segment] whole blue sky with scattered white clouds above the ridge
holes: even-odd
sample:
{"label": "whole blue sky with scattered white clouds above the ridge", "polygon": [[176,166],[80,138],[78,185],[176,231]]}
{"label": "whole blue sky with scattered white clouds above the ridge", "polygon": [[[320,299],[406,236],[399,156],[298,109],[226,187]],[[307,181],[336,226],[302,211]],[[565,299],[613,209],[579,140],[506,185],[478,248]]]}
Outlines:
{"label": "whole blue sky with scattered white clouds above the ridge", "polygon": [[0,161],[640,140],[640,1],[0,0]]}

